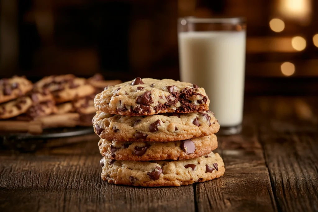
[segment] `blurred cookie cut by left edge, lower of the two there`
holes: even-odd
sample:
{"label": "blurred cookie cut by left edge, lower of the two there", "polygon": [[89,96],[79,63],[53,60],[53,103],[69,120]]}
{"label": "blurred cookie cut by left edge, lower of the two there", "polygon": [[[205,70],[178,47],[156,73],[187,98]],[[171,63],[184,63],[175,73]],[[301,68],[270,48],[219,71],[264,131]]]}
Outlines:
{"label": "blurred cookie cut by left edge, lower of the two there", "polygon": [[30,97],[24,96],[0,105],[0,119],[9,119],[25,113],[32,106]]}

